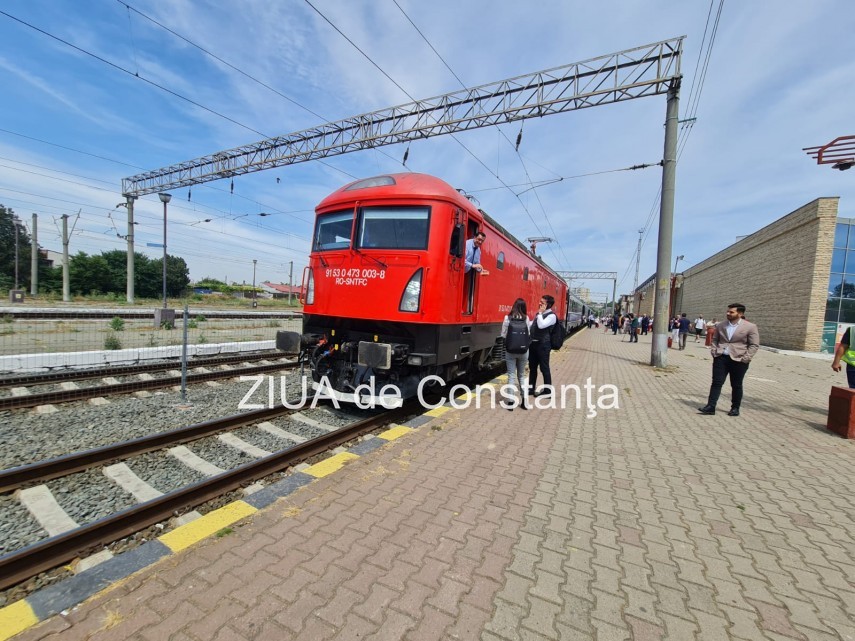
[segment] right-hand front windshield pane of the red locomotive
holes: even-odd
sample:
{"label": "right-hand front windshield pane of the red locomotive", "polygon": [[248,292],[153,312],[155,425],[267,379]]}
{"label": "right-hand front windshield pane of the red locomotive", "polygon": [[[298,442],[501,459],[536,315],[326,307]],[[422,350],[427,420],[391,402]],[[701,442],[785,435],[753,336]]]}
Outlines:
{"label": "right-hand front windshield pane of the red locomotive", "polygon": [[364,207],[357,238],[362,249],[427,249],[430,207]]}

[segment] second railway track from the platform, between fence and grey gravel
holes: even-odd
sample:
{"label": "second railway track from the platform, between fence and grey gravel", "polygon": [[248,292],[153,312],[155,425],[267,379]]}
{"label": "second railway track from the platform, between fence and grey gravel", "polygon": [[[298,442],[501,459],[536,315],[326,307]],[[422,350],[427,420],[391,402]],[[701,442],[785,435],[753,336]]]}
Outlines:
{"label": "second railway track from the platform, between fence and grey gravel", "polygon": [[[274,359],[275,362],[272,363],[264,362],[246,367],[236,367],[242,363],[272,361]],[[174,362],[161,362],[158,364],[5,377],[0,379],[0,390],[9,390],[9,394],[0,397],[0,411],[172,387],[181,384],[181,375],[174,373],[176,367],[180,367],[180,365]],[[208,370],[210,367],[217,367],[218,369]],[[235,376],[265,374],[294,367],[296,367],[296,363],[285,359],[278,353],[199,359],[188,363],[188,369],[195,371],[188,372],[186,382],[188,384],[202,383]],[[158,372],[161,375],[154,377],[153,373]],[[119,379],[123,377],[136,378],[124,382],[120,381]],[[79,386],[76,381],[86,381],[86,384]],[[45,390],[45,387],[52,387],[52,389]],[[56,389],[57,387],[59,389]]]}

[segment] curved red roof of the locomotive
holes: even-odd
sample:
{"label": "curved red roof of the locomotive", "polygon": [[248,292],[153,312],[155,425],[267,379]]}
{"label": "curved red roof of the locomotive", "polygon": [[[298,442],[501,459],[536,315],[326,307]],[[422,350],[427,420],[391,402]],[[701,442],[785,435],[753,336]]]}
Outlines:
{"label": "curved red roof of the locomotive", "polygon": [[[341,187],[340,189],[337,189],[336,191],[331,193],[318,204],[316,209],[326,209],[328,207],[335,206],[339,202],[352,202],[354,200],[354,197],[358,198],[355,192],[362,191],[363,189],[366,191],[370,190],[372,192],[372,197],[382,195],[388,198],[402,196],[442,198],[444,200],[449,200],[451,202],[456,203],[463,209],[477,209],[478,212],[484,217],[484,220],[491,227],[494,227],[496,231],[498,231],[505,238],[514,243],[526,254],[531,256],[531,258],[537,261],[537,263],[540,264],[541,267],[549,271],[553,276],[555,276],[556,278],[561,278],[549,265],[543,262],[543,260],[539,256],[533,255],[529,251],[528,247],[526,247],[520,240],[518,240],[513,234],[511,234],[507,229],[505,229],[505,227],[496,222],[496,220],[492,216],[490,216],[483,209],[476,208],[472,204],[472,202],[466,196],[463,195],[462,192],[458,191],[441,178],[437,178],[436,176],[431,176],[429,174],[407,172],[400,174],[383,174],[380,176],[374,176],[372,178],[361,178],[359,180],[350,182]],[[366,193],[366,196],[367,195],[368,194]]]}

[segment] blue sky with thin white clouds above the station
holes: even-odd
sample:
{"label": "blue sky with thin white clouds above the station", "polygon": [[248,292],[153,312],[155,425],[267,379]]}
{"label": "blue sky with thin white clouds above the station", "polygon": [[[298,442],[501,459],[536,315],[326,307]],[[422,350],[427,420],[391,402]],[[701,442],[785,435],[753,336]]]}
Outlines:
{"label": "blue sky with thin white clouds above the station", "polygon": [[[855,135],[851,0],[5,0],[0,11],[0,204],[28,227],[38,214],[45,249],[62,250],[63,214],[72,254],[126,249],[122,178],[680,36],[680,118],[695,120],[680,129],[671,262],[687,269],[819,197],[839,196],[839,215],[855,218],[855,170],[802,150]],[[554,269],[617,272],[626,293],[636,265],[639,283],[656,269],[662,180],[658,166],[626,169],[661,160],[665,109],[650,96],[413,142],[406,166],[406,145],[390,145],[177,189],[168,251],[194,281],[250,283],[256,261],[257,282],[293,270],[297,283],[325,196],[416,171],[464,189],[523,241],[553,238],[538,253]],[[136,250],[160,257],[157,195],[135,214]],[[573,286],[611,296],[608,280]]]}

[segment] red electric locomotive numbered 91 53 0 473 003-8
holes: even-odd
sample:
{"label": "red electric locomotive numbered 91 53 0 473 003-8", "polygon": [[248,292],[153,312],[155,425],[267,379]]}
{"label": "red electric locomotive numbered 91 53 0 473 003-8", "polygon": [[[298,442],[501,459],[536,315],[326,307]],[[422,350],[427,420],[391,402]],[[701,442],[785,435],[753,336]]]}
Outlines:
{"label": "red electric locomotive numbered 91 53 0 473 003-8", "polygon": [[[489,273],[465,273],[477,231]],[[544,294],[565,322],[566,282],[458,190],[425,174],[377,176],[316,208],[303,331],[280,332],[277,346],[339,400],[376,399],[387,385],[408,398],[426,377],[451,382],[500,362],[514,300],[531,314]]]}

